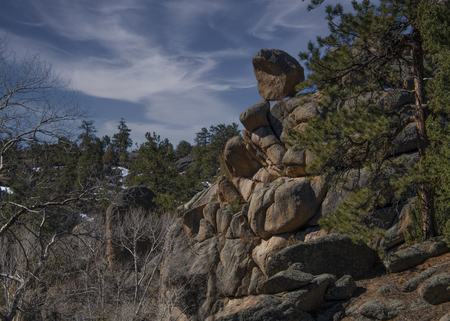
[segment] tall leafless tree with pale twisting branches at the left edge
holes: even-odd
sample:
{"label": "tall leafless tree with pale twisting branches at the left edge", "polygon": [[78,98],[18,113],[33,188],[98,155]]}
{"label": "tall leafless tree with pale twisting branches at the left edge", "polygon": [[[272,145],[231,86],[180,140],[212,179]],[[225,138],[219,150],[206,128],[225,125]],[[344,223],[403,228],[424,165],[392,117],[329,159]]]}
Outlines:
{"label": "tall leafless tree with pale twisting branches at the left edge", "polygon": [[48,285],[46,273],[63,258],[55,249],[81,207],[97,197],[95,184],[61,188],[67,168],[56,166],[52,154],[57,147],[75,155],[69,138],[83,115],[75,93],[48,63],[39,55],[20,58],[0,39],[0,180],[17,186],[12,195],[0,195],[2,320],[42,304],[45,295],[37,289]]}

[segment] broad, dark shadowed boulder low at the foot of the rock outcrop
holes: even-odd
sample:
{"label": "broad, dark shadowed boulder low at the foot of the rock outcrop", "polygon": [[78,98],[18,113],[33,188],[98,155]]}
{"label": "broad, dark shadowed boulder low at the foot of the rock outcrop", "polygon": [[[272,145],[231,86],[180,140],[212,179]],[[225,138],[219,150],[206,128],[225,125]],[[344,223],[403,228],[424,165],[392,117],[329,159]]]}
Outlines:
{"label": "broad, dark shadowed boulder low at the foot of the rock outcrop", "polygon": [[355,244],[347,235],[328,234],[292,245],[273,255],[267,265],[267,275],[271,277],[300,262],[307,273],[332,273],[337,277],[349,274],[358,279],[368,273],[378,260],[376,251],[366,244]]}

